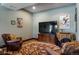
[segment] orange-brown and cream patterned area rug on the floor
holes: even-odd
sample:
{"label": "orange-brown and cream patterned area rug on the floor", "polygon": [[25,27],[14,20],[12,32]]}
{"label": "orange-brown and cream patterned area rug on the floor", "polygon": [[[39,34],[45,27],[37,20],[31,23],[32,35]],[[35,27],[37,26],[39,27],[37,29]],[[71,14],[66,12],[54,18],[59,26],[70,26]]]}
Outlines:
{"label": "orange-brown and cream patterned area rug on the floor", "polygon": [[52,51],[60,52],[60,48],[54,44],[29,40],[22,44],[20,51],[8,51],[8,53],[11,55],[48,55],[45,48],[50,48]]}

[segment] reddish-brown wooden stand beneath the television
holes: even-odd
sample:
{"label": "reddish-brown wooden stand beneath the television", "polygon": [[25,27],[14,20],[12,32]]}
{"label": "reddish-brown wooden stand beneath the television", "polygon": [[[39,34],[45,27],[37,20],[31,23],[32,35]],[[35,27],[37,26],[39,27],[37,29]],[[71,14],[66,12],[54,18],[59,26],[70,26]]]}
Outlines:
{"label": "reddish-brown wooden stand beneath the television", "polygon": [[55,44],[56,38],[52,34],[40,33],[38,34],[38,41]]}

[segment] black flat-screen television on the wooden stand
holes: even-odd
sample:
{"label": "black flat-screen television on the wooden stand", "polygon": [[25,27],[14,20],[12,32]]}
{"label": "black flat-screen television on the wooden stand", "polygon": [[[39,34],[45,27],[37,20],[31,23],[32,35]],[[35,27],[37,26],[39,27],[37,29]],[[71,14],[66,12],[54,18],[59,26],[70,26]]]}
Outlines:
{"label": "black flat-screen television on the wooden stand", "polygon": [[55,34],[58,30],[57,21],[39,22],[39,33]]}

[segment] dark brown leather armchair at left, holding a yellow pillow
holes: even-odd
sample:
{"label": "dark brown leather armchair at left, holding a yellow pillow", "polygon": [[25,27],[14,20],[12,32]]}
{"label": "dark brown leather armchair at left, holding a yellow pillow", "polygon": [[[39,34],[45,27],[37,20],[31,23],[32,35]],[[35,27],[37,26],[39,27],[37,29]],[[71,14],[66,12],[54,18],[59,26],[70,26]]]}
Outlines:
{"label": "dark brown leather armchair at left, holding a yellow pillow", "polygon": [[2,38],[5,41],[7,51],[17,51],[21,48],[21,37],[18,37],[16,40],[11,40],[10,34],[2,34]]}

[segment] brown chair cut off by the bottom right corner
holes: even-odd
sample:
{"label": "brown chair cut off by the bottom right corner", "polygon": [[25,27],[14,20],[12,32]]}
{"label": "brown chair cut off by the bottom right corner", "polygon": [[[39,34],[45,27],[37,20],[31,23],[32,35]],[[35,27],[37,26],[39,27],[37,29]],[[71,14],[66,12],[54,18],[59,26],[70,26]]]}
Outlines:
{"label": "brown chair cut off by the bottom right corner", "polygon": [[64,43],[61,51],[65,55],[79,55],[79,42],[73,41]]}

